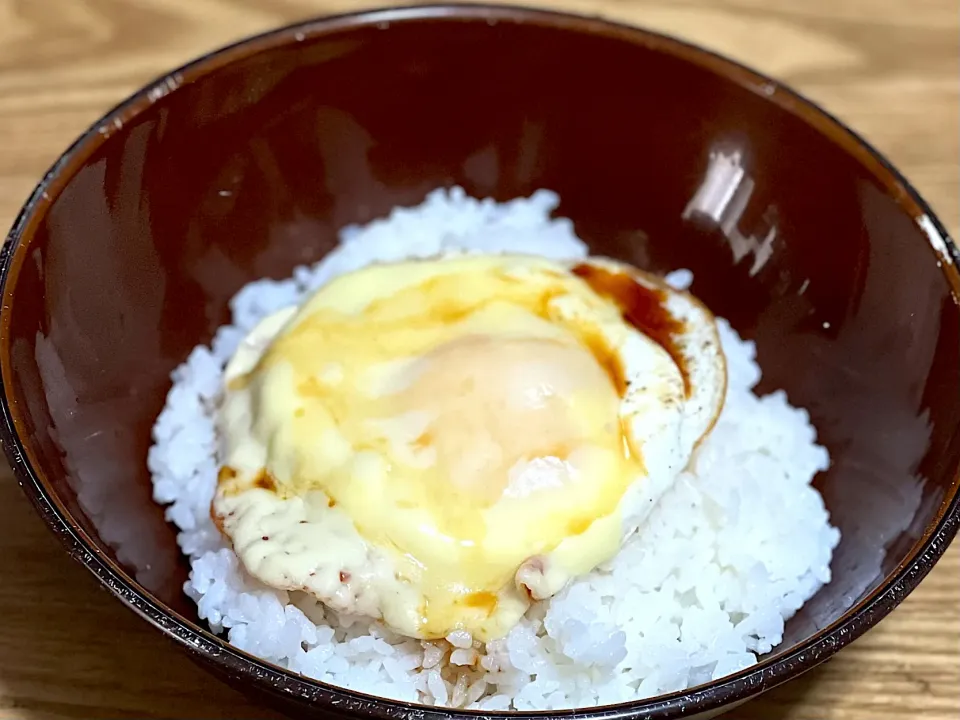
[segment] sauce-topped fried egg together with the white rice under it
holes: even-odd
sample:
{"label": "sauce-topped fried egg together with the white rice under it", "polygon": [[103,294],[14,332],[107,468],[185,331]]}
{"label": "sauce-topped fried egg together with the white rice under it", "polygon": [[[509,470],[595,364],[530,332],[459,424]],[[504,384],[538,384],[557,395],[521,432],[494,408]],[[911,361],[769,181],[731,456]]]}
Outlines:
{"label": "sauce-topped fried egg together with the white rice under it", "polygon": [[[248,286],[239,327],[175,373],[150,464],[214,630],[374,694],[577,707],[752,664],[829,580],[805,414],[774,396],[774,436],[742,436],[742,341],[663,279],[585,257],[551,199],[437,193],[352,229],[299,278]],[[183,482],[191,428],[210,442]],[[777,432],[771,491],[748,476]],[[723,537],[748,490],[803,499],[780,528],[746,518],[759,552]]]}

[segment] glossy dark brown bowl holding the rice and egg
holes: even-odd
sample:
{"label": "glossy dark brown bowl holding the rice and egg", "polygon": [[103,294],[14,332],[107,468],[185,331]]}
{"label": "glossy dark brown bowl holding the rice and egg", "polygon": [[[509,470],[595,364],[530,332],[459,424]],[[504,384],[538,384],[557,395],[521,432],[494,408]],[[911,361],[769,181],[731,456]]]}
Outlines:
{"label": "glossy dark brown bowl holding the rice and egg", "polygon": [[[723,176],[735,153],[743,176]],[[708,168],[729,202],[697,196]],[[2,439],[68,552],[220,677],[299,716],[475,716],[316,683],[208,632],[145,465],[170,371],[241,285],[455,183],[501,200],[551,188],[595,251],[691,268],[756,340],[764,389],[809,408],[834,458],[816,481],[843,533],[834,580],[775,654],[573,716],[715,714],[916,587],[960,517],[960,257],[930,209],[757,73],[622,25],[479,6],[322,19],[221,50],[124,102],[42,180],[3,248]]]}

